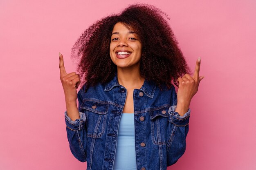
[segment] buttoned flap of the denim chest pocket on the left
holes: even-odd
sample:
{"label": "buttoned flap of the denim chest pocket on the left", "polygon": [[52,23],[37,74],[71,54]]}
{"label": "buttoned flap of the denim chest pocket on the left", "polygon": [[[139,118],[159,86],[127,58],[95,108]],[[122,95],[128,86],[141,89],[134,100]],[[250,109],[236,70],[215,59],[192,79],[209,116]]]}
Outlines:
{"label": "buttoned flap of the denim chest pocket on the left", "polygon": [[83,103],[80,105],[80,108],[101,115],[105,115],[106,113],[108,113],[108,104],[102,104],[94,101],[83,101]]}

